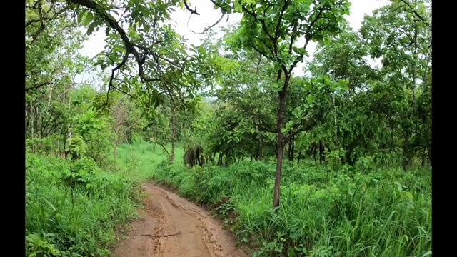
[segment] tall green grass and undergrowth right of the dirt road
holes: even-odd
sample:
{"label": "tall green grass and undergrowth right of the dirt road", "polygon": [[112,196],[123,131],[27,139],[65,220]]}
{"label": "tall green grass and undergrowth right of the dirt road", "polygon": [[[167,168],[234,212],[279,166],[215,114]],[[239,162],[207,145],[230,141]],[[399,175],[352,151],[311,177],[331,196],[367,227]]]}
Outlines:
{"label": "tall green grass and undergrowth right of the dirt road", "polygon": [[285,162],[276,211],[274,163],[163,162],[153,178],[211,206],[253,256],[431,255],[431,171],[361,170]]}

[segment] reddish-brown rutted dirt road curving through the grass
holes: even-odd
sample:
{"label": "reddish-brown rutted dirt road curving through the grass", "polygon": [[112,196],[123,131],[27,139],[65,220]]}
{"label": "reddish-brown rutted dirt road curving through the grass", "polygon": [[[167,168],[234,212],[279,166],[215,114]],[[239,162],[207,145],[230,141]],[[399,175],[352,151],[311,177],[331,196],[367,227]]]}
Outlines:
{"label": "reddish-brown rutted dirt road curving through the grass", "polygon": [[207,211],[151,183],[141,218],[131,223],[129,236],[114,251],[116,257],[247,256],[233,237]]}

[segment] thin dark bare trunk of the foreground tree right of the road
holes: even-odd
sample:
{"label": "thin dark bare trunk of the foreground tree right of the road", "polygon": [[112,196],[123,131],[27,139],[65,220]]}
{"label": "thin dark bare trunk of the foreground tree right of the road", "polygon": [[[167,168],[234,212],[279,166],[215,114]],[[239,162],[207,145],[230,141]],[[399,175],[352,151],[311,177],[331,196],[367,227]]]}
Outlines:
{"label": "thin dark bare trunk of the foreground tree right of the road", "polygon": [[[273,208],[279,206],[279,188],[281,184],[281,172],[283,168],[283,153],[284,153],[284,140],[283,140],[283,121],[284,121],[284,109],[285,109],[285,102],[286,102],[286,92],[287,86],[290,79],[289,74],[284,74],[284,86],[279,94],[279,108],[278,108],[278,120],[276,124],[276,129],[278,131],[278,156],[276,157],[276,178],[274,181],[274,191],[273,191]],[[278,72],[278,79],[281,79],[281,71]]]}

